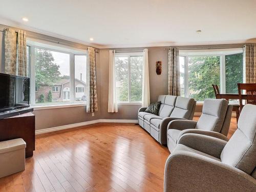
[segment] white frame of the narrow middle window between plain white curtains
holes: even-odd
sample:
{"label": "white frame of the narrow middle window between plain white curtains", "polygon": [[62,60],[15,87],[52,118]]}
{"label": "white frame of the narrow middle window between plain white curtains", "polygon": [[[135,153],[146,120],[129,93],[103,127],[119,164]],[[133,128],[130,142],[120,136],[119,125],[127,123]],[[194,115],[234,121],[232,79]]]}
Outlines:
{"label": "white frame of the narrow middle window between plain white curtains", "polygon": [[[128,101],[118,101],[117,104],[141,104],[142,101],[131,101],[131,57],[142,56],[143,52],[121,52],[115,53],[115,61],[116,57],[127,57],[127,65],[128,65]],[[115,64],[116,66],[116,64]],[[116,70],[115,70],[116,72]]]}

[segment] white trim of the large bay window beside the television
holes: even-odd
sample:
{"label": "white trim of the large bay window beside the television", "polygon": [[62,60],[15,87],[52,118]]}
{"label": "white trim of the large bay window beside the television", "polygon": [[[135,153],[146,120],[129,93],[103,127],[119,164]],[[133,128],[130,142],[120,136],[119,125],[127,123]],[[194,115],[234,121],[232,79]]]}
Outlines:
{"label": "white trim of the large bay window beside the television", "polygon": [[[35,110],[65,108],[73,106],[86,106],[84,102],[75,100],[75,55],[86,55],[87,50],[80,50],[73,47],[61,46],[47,41],[27,39],[27,46],[30,50],[30,105]],[[66,53],[70,55],[70,101],[63,104],[36,105],[35,104],[35,48]],[[55,87],[55,86],[53,86]],[[58,89],[59,91],[59,89]]]}

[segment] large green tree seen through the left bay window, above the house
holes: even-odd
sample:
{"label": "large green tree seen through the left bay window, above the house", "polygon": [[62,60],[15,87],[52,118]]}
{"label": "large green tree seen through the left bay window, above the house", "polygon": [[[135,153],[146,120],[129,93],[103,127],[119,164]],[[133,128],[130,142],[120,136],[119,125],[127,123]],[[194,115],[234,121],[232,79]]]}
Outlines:
{"label": "large green tree seen through the left bay window, above the house", "polygon": [[52,86],[59,76],[59,66],[54,63],[52,53],[44,49],[35,49],[35,86]]}

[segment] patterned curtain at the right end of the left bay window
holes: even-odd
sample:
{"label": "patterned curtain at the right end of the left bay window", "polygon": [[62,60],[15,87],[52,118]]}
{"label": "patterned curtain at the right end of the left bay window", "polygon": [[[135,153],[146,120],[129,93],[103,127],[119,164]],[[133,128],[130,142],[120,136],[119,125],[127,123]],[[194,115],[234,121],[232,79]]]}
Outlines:
{"label": "patterned curtain at the right end of the left bay window", "polygon": [[87,57],[87,113],[98,111],[98,98],[96,86],[95,50],[88,47]]}

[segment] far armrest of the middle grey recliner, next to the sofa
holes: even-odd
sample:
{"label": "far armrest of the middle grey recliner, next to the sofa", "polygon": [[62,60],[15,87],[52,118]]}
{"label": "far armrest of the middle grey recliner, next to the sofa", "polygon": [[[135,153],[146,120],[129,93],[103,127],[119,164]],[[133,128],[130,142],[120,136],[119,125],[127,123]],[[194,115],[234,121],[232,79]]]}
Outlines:
{"label": "far armrest of the middle grey recliner, next to the sofa", "polygon": [[167,130],[186,130],[186,129],[195,129],[197,121],[193,120],[173,120],[170,121],[167,125]]}

